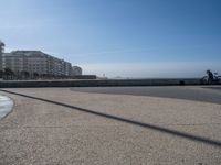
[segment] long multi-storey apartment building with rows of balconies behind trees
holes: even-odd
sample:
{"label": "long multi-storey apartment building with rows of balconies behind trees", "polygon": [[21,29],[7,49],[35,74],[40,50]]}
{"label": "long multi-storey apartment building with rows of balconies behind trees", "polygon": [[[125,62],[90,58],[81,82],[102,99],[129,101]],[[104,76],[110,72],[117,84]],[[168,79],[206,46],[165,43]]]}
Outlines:
{"label": "long multi-storey apartment building with rows of balconies behind trees", "polygon": [[2,56],[3,68],[14,74],[29,72],[31,75],[71,76],[72,65],[69,62],[48,55],[41,51],[13,51]]}

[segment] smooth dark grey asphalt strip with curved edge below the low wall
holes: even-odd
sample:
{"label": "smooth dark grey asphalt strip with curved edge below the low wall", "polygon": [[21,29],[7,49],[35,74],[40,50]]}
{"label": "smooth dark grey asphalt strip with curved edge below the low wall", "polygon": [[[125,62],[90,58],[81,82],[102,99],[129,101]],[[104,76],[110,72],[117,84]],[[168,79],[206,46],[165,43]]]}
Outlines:
{"label": "smooth dark grey asphalt strip with curved edge below the low wall", "polygon": [[164,98],[177,98],[203,102],[221,103],[221,86],[168,86],[168,87],[88,87],[72,88],[73,91],[118,94],[134,96],[151,96]]}

